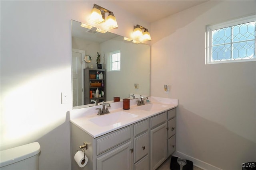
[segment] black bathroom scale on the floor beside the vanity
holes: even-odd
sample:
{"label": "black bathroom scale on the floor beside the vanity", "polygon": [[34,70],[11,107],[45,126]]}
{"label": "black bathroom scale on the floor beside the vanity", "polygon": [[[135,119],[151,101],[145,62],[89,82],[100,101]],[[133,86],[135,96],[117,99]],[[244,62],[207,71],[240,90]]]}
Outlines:
{"label": "black bathroom scale on the floor beside the vanity", "polygon": [[193,162],[172,156],[170,170],[193,170]]}

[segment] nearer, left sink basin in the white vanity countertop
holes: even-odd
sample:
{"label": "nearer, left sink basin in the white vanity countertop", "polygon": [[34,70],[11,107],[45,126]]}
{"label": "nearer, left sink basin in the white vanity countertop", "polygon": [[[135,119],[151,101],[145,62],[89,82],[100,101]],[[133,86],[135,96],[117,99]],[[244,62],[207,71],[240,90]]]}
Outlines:
{"label": "nearer, left sink basin in the white vanity countertop", "polygon": [[138,115],[128,113],[125,111],[119,111],[116,113],[108,113],[106,115],[100,115],[99,117],[95,117],[92,119],[89,119],[92,123],[95,123],[99,126],[110,126],[113,125],[114,127],[120,126],[120,123],[122,121],[126,121],[128,119],[132,119],[134,117],[137,117]]}

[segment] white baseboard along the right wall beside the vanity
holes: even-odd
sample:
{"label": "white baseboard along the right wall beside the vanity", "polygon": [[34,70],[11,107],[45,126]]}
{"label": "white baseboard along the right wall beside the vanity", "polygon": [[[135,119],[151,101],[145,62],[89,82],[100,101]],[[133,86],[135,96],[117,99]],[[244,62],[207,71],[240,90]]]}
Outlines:
{"label": "white baseboard along the right wall beside the vanity", "polygon": [[208,164],[202,160],[193,158],[191,156],[188,156],[182,152],[179,151],[175,151],[174,154],[172,154],[172,156],[176,156],[178,158],[182,158],[182,159],[187,159],[187,160],[191,160],[193,162],[194,166],[197,166],[198,168],[201,168],[203,170],[221,170],[220,168],[217,168],[216,166],[213,166],[211,164]]}

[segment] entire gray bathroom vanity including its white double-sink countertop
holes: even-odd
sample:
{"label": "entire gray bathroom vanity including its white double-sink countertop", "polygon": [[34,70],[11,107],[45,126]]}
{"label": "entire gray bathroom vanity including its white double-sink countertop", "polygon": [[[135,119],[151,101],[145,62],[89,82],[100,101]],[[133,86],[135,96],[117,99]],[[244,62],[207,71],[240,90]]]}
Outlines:
{"label": "entire gray bathroom vanity including its white double-sink countertop", "polygon": [[[150,103],[123,110],[113,103],[110,113],[97,115],[101,106],[70,111],[72,170],[155,170],[176,148],[178,100],[149,97]],[[138,99],[137,99],[138,100]],[[88,163],[80,168],[74,155],[87,144]]]}

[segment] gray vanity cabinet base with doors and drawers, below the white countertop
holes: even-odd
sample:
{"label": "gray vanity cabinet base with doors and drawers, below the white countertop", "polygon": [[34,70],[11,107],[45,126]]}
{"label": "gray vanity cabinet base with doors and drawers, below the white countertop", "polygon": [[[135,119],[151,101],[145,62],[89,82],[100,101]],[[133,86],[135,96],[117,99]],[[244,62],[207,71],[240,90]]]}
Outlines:
{"label": "gray vanity cabinet base with doors and drawers, below the white countertop", "polygon": [[[155,170],[176,149],[176,108],[93,138],[71,123],[72,170]],[[86,142],[88,164],[74,161]]]}

